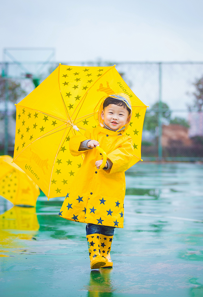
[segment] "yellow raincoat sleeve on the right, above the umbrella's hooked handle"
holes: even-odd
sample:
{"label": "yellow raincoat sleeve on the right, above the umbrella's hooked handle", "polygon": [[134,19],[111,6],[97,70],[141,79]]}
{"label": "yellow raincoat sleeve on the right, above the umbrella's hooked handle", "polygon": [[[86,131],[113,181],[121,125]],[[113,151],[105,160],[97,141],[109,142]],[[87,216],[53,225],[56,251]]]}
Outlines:
{"label": "yellow raincoat sleeve on the right, above the umbrella's hooked handle", "polygon": [[133,145],[132,139],[128,139],[124,142],[120,148],[115,149],[113,152],[107,154],[107,158],[113,163],[112,168],[107,170],[107,173],[115,173],[120,171],[126,171],[131,164],[133,157]]}

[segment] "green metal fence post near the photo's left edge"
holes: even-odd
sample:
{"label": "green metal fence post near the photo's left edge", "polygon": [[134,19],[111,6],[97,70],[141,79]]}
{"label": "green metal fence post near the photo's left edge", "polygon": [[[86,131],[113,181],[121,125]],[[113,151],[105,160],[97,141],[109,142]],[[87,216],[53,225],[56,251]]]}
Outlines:
{"label": "green metal fence post near the photo's left edge", "polygon": [[4,155],[8,155],[8,63],[5,63]]}

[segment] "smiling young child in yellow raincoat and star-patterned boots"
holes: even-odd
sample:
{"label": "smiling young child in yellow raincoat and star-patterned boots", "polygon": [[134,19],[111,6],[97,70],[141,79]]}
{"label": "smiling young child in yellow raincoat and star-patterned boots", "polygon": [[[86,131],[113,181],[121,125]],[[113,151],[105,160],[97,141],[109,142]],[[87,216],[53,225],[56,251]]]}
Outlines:
{"label": "smiling young child in yellow raincoat and star-patterned boots", "polygon": [[[84,154],[84,161],[59,215],[87,223],[91,269],[113,266],[110,250],[114,228],[123,228],[125,171],[133,156],[132,138],[126,135],[131,115],[131,103],[126,94],[110,95],[99,109],[100,125],[69,141],[71,154]],[[102,156],[95,149],[98,145],[107,154],[102,169]]]}

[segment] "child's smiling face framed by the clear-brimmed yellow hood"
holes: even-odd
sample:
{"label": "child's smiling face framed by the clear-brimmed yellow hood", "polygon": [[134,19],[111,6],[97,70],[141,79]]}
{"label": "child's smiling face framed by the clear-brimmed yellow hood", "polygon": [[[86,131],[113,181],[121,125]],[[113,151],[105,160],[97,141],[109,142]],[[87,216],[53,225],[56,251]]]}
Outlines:
{"label": "child's smiling face framed by the clear-brimmed yellow hood", "polygon": [[130,121],[130,115],[126,108],[116,104],[110,104],[104,107],[101,118],[106,126],[111,129],[118,130]]}

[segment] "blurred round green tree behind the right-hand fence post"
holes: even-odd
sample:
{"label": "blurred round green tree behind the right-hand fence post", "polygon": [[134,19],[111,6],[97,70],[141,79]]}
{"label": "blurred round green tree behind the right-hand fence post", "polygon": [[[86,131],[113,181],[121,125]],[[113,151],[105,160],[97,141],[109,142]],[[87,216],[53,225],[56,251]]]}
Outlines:
{"label": "blurred round green tree behind the right-hand fence post", "polygon": [[[162,102],[161,118],[162,122],[169,122],[171,117],[171,111],[166,103]],[[159,102],[152,105],[152,108],[146,112],[143,129],[155,132],[158,127],[159,118]]]}

